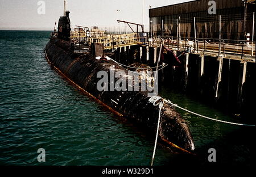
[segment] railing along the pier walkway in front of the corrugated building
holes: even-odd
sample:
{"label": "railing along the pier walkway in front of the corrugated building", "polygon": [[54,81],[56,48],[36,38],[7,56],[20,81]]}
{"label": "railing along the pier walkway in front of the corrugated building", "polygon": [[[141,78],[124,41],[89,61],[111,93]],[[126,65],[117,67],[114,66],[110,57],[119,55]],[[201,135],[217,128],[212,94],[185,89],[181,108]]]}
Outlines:
{"label": "railing along the pier walkway in front of the corrugated building", "polygon": [[[230,39],[183,38],[173,36],[155,36],[150,46],[166,45],[174,50],[184,50],[192,53],[211,54],[217,56],[255,56],[255,41]],[[254,60],[255,61],[255,60]]]}

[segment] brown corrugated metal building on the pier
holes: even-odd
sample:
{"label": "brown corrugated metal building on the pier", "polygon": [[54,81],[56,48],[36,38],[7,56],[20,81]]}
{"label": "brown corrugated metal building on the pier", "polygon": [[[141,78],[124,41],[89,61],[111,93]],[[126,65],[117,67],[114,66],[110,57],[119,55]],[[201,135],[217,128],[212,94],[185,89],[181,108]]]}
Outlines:
{"label": "brown corrugated metal building on the pier", "polygon": [[208,2],[208,0],[198,0],[150,9],[152,35],[162,36],[163,22],[164,36],[177,36],[178,19],[180,36],[195,37],[195,17],[196,37],[218,39],[221,15],[221,39],[245,40],[246,33],[250,33],[251,36],[255,1],[247,0],[245,10],[245,1],[215,0],[216,14],[208,13],[208,9],[211,7]]}

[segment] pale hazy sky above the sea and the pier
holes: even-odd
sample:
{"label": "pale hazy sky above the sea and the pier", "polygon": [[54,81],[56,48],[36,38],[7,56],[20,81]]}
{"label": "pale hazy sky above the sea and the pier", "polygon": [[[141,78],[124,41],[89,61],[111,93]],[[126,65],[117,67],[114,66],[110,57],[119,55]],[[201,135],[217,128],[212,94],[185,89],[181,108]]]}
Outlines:
{"label": "pale hazy sky above the sea and the pier", "polygon": [[[46,14],[38,14],[39,0],[0,0],[0,29],[53,29],[63,16],[63,0],[44,0]],[[142,23],[143,0],[67,0],[71,25],[113,27],[120,20]],[[144,25],[148,9],[191,0],[144,0]],[[117,14],[117,9],[120,11]]]}

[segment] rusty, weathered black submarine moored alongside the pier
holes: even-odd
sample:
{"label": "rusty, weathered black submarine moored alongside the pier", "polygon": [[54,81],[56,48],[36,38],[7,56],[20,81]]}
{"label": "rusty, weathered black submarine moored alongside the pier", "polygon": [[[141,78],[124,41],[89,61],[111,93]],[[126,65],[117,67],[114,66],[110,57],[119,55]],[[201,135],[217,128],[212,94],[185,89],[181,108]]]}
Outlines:
{"label": "rusty, weathered black submarine moored alongside the pier", "polygon": [[[159,95],[152,96],[158,98],[152,102],[152,97],[144,90],[98,89],[97,83],[102,79],[98,77],[100,71],[110,77],[112,68],[115,73],[125,73],[126,78],[130,77],[129,71],[117,62],[108,60],[108,57],[100,56],[100,59],[97,59],[96,44],[92,44],[94,47],[90,46],[88,53],[74,52],[69,13],[64,7],[64,15],[59,19],[57,31],[55,29],[55,32],[52,32],[46,45],[45,56],[49,65],[74,86],[118,116],[134,122],[134,125],[138,123],[149,132],[156,133],[160,119],[158,137],[164,144],[187,152],[193,151],[193,137],[185,120],[167,103],[163,102],[162,109],[156,106],[156,102],[163,100]],[[114,78],[112,82],[118,82],[118,79],[120,78]],[[105,88],[110,88],[112,82],[102,83],[105,83]],[[129,83],[126,83],[127,87],[128,85]]]}

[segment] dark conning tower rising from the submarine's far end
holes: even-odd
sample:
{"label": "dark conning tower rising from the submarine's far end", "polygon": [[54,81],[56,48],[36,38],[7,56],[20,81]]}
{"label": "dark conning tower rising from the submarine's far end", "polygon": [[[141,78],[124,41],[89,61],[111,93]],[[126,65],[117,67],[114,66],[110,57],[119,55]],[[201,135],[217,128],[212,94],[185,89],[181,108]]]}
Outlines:
{"label": "dark conning tower rising from the submarine's far end", "polygon": [[69,19],[69,11],[64,11],[64,16],[61,16],[58,23],[58,38],[70,40],[71,24]]}

